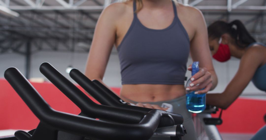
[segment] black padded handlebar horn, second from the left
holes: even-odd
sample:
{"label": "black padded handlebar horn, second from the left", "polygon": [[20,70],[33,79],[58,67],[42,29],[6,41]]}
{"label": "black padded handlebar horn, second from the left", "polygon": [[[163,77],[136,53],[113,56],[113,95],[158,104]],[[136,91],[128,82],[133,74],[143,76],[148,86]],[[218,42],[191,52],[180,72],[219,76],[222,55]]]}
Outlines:
{"label": "black padded handlebar horn, second from the left", "polygon": [[44,62],[40,72],[48,78],[62,93],[81,109],[81,115],[109,120],[118,123],[139,123],[144,113],[94,103],[87,95],[65,78],[51,64]]}

